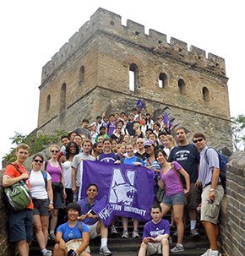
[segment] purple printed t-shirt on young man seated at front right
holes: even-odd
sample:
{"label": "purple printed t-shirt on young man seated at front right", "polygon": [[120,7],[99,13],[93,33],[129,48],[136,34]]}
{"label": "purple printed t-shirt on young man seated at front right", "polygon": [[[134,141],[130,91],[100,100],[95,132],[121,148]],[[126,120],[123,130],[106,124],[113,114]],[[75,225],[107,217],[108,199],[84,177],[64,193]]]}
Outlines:
{"label": "purple printed t-shirt on young man seated at front right", "polygon": [[148,221],[144,225],[143,240],[144,237],[157,237],[158,235],[170,235],[169,222],[161,219],[161,221],[155,224],[153,221]]}

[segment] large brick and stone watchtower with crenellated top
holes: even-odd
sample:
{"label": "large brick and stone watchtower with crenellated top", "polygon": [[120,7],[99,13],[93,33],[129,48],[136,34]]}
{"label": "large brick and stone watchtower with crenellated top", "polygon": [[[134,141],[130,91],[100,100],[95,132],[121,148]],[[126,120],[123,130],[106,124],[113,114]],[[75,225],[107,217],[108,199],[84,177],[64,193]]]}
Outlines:
{"label": "large brick and stone watchtower with crenellated top", "polygon": [[150,114],[169,107],[190,132],[231,145],[227,80],[223,58],[99,8],[42,68],[37,130],[69,131],[141,99]]}

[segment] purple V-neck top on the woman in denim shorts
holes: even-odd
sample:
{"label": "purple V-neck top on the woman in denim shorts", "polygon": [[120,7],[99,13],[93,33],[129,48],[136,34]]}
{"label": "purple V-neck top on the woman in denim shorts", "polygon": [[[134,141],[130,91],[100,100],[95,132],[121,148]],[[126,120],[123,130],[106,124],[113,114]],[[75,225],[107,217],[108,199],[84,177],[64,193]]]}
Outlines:
{"label": "purple V-neck top on the woman in denim shorts", "polygon": [[[182,166],[178,164],[177,161],[173,161],[172,164],[173,166],[175,166],[177,171],[182,168]],[[160,176],[161,180],[166,186],[166,196],[183,193],[183,188],[179,177],[177,177],[176,172],[174,172],[172,168],[168,172],[166,172],[166,174],[163,174],[161,169]]]}

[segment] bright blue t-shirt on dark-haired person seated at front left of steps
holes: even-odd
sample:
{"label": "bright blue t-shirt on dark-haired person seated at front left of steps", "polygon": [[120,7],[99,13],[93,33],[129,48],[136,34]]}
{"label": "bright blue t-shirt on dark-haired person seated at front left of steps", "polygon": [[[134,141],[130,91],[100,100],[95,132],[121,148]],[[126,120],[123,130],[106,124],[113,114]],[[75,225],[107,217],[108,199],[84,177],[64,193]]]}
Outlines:
{"label": "bright blue t-shirt on dark-haired person seated at front left of steps", "polygon": [[[76,226],[69,226],[68,222],[62,224],[57,228],[57,232],[63,233],[63,240],[64,242],[68,242],[71,239],[79,239],[82,238],[82,233],[79,231],[79,224],[78,221]],[[84,223],[81,224],[82,232],[90,232],[88,226],[86,226]]]}

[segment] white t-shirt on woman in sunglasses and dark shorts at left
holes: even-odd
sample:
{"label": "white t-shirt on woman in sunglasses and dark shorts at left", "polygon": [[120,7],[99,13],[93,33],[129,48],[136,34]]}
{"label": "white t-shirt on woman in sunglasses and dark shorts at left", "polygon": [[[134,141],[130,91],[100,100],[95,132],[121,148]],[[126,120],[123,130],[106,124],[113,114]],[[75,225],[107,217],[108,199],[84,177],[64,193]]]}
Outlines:
{"label": "white t-shirt on woman in sunglasses and dark shorts at left", "polygon": [[[46,180],[51,180],[51,176],[48,172],[46,172]],[[48,199],[48,195],[46,192],[46,186],[44,177],[41,173],[41,170],[38,172],[34,172],[33,170],[30,172],[30,193],[31,196],[35,199]]]}

